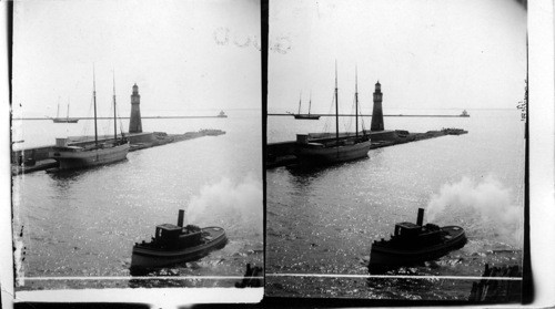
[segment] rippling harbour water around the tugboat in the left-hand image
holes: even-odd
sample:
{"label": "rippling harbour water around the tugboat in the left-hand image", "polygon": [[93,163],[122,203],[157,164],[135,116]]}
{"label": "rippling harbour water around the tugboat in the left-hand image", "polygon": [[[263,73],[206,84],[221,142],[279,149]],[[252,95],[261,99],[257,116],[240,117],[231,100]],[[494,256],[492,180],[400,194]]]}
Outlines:
{"label": "rippling harbour water around the tugboat in the left-hand image", "polygon": [[[133,244],[150,239],[158,224],[176,224],[180,208],[186,209],[185,223],[221,226],[230,241],[198,261],[150,275],[242,276],[246,262],[261,265],[260,112],[229,114],[229,119],[143,120],[144,131],[220,128],[225,135],[137,151],[127,161],[85,171],[13,177],[13,228],[18,235],[23,231],[26,247],[19,278],[30,278],[20,289],[233,286],[236,280],[32,279],[129,277]],[[78,126],[23,121],[18,134],[30,145],[52,144],[53,137],[79,135]]]}

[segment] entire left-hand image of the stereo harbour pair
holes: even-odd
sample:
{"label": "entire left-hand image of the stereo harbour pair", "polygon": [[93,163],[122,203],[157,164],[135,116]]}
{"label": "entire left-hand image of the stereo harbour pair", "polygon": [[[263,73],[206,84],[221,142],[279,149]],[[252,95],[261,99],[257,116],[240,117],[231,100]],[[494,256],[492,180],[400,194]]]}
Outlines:
{"label": "entire left-hand image of the stereo harbour pair", "polygon": [[16,1],[16,291],[262,287],[260,3]]}

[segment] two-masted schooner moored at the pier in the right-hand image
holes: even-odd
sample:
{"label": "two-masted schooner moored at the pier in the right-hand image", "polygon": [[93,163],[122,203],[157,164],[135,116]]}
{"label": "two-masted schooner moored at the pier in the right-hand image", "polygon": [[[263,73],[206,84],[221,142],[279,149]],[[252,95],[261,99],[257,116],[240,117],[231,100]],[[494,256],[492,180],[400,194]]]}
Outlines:
{"label": "two-masted schooner moored at the pier in the right-hand image", "polygon": [[325,165],[341,163],[369,155],[370,136],[362,130],[359,134],[359,81],[355,73],[355,135],[340,138],[337,64],[335,64],[335,138],[310,140],[306,134],[297,134],[295,155],[302,165]]}

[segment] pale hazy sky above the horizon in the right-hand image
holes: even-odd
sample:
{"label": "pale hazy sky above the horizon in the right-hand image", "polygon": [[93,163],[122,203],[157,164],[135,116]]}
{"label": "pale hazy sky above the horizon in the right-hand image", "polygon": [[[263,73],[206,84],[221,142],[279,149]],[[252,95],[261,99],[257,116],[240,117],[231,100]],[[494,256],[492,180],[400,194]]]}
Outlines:
{"label": "pale hazy sky above the horizon in the right-hand image", "polygon": [[[269,113],[363,113],[380,81],[393,110],[516,109],[526,78],[526,11],[507,0],[270,2]],[[458,111],[458,112],[460,112]]]}

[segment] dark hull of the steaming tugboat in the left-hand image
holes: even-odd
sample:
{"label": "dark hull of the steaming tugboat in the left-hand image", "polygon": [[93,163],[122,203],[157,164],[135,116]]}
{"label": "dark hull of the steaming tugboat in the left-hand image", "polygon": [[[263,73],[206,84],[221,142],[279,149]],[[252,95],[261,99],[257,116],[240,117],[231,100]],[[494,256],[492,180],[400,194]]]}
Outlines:
{"label": "dark hull of the steaming tugboat in the left-hand image", "polygon": [[228,238],[225,237],[225,231],[221,227],[205,227],[202,228],[203,233],[210,234],[210,240],[206,243],[184,249],[160,249],[143,246],[138,244],[133,247],[133,254],[131,257],[131,268],[133,269],[144,269],[144,268],[157,268],[174,265],[178,262],[191,261],[199,259],[210,251],[222,248],[225,246]]}

